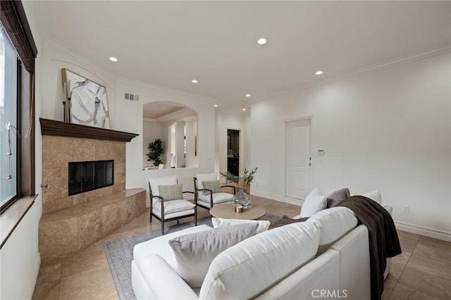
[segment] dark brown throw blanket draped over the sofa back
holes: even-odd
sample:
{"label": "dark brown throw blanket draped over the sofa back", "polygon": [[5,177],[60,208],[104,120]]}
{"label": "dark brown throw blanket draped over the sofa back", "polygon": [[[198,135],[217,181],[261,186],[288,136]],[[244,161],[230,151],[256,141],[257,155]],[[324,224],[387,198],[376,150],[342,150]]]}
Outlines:
{"label": "dark brown throw blanket draped over the sofa back", "polygon": [[380,204],[365,196],[349,197],[337,206],[350,208],[359,223],[368,228],[371,300],[379,300],[383,292],[386,259],[402,252],[393,218]]}

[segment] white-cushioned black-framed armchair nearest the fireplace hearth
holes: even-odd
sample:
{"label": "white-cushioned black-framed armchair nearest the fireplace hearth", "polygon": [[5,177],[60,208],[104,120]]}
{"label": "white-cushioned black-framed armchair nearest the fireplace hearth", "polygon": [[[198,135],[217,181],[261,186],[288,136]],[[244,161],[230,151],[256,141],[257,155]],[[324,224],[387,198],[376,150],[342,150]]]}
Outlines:
{"label": "white-cushioned black-framed armchair nearest the fireplace hearth", "polygon": [[164,223],[181,218],[194,216],[194,225],[197,226],[197,207],[190,201],[183,199],[182,185],[178,184],[177,177],[149,178],[150,193],[150,223],[152,215],[161,221],[161,234],[164,235]]}

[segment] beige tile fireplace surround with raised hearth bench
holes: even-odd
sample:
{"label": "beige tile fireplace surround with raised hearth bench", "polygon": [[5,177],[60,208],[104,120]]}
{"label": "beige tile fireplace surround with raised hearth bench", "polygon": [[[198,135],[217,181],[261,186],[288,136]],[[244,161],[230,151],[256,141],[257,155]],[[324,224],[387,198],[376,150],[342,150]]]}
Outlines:
{"label": "beige tile fireplace surround with raised hearth bench", "polygon": [[[51,132],[46,123],[56,127],[74,127],[83,134]],[[42,217],[39,221],[39,252],[47,261],[73,254],[146,210],[145,190],[125,189],[125,142],[105,137],[113,130],[42,120]],[[85,128],[86,127],[86,128]],[[57,130],[58,131],[58,130]],[[68,130],[70,131],[70,130]],[[100,139],[89,132],[101,133]],[[104,134],[104,132],[106,134]],[[126,132],[118,132],[126,133]],[[106,140],[110,139],[110,140]],[[74,161],[114,161],[114,185],[68,196],[68,163]]]}

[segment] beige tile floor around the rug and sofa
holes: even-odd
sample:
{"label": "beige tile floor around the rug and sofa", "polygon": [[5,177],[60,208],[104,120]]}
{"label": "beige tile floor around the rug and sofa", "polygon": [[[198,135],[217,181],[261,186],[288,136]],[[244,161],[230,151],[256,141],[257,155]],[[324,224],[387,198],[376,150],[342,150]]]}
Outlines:
{"label": "beige tile floor around the rug and sofa", "polygon": [[[273,215],[294,216],[299,206],[252,196]],[[199,208],[199,218],[209,216]],[[190,221],[190,218],[186,219]],[[77,255],[44,261],[32,299],[118,299],[102,243],[160,228],[149,223],[149,211]],[[451,299],[451,243],[398,232],[403,253],[393,258],[383,299]]]}

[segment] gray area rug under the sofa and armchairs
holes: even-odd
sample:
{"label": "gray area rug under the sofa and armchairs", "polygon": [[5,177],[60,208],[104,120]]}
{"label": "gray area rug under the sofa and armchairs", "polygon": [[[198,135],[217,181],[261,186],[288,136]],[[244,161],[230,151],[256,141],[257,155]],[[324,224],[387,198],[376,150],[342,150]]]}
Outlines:
{"label": "gray area rug under the sofa and armchairs", "polygon": [[[280,217],[266,213],[259,220],[268,220],[271,223],[279,220]],[[211,218],[202,218],[197,220],[197,225],[211,225]],[[181,223],[178,225],[172,225],[165,227],[165,233],[171,233],[178,230],[183,230],[188,227],[192,227],[194,222]],[[132,289],[132,260],[133,260],[133,247],[135,244],[139,244],[154,237],[161,236],[161,230],[152,230],[149,232],[141,233],[140,235],[132,235],[131,237],[123,237],[122,239],[116,239],[114,241],[105,242],[104,247],[106,261],[110,266],[111,275],[113,275],[114,284],[118,291],[119,299],[121,300],[135,300],[135,293]]]}

